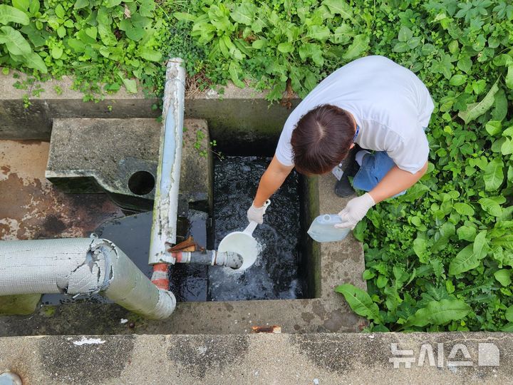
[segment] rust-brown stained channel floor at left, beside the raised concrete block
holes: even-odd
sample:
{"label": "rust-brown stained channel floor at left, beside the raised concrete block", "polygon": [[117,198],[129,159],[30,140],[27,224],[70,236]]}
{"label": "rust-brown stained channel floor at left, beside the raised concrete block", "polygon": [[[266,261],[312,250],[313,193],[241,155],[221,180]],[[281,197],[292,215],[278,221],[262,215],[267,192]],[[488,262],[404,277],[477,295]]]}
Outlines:
{"label": "rust-brown stained channel floor at left, beside the raised concrete block", "polygon": [[0,240],[87,237],[123,212],[104,194],[65,194],[45,178],[49,143],[0,140]]}

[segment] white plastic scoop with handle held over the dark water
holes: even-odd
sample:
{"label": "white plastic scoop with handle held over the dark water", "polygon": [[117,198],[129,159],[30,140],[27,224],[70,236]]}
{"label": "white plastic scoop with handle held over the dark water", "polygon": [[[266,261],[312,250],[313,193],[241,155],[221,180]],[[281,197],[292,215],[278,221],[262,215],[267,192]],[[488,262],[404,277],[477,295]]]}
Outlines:
{"label": "white plastic scoop with handle held over the dark water", "polygon": [[[264,212],[270,203],[270,200],[266,200],[264,203]],[[253,232],[257,228],[257,225],[258,223],[252,220],[244,231],[230,232],[219,243],[217,252],[237,252],[237,254],[242,256],[244,262],[241,267],[235,270],[246,270],[257,260],[258,242],[253,237]]]}

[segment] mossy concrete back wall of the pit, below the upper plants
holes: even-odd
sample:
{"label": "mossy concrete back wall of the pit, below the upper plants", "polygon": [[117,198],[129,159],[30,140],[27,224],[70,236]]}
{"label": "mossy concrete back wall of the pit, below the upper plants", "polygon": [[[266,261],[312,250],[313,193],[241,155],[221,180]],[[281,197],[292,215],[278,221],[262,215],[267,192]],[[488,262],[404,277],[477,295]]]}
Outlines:
{"label": "mossy concrete back wall of the pit, below the upper plants", "polygon": [[[0,139],[50,140],[54,118],[156,118],[160,110],[152,109],[158,104],[157,98],[145,98],[140,91],[129,94],[122,89],[106,96],[103,101],[83,102],[83,94],[71,91],[71,78],[51,80],[41,83],[44,89],[40,96],[30,96],[30,106],[25,108],[24,96],[27,90],[14,87],[25,76],[0,76]],[[60,88],[62,93],[56,92]],[[237,88],[232,84],[221,95],[215,91],[197,93],[186,97],[186,118],[207,120],[212,138],[224,136],[224,130],[233,133],[229,143],[219,143],[226,152],[237,149],[241,143],[255,139],[264,140],[265,148],[274,151],[276,140],[290,109],[264,99],[263,93],[251,88]],[[291,101],[296,106],[299,101]],[[249,154],[248,154],[249,155]]]}

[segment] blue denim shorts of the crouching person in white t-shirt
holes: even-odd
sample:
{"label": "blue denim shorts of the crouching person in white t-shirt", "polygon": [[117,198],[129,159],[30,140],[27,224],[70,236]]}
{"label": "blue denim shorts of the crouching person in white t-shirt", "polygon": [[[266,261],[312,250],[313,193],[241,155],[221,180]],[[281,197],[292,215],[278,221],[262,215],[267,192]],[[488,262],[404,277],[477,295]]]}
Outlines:
{"label": "blue denim shorts of the crouching person in white t-shirt", "polygon": [[[377,151],[373,154],[366,154],[363,157],[362,165],[353,178],[353,187],[363,191],[371,191],[380,180],[395,166],[394,161],[386,151]],[[406,190],[394,195],[404,195]]]}

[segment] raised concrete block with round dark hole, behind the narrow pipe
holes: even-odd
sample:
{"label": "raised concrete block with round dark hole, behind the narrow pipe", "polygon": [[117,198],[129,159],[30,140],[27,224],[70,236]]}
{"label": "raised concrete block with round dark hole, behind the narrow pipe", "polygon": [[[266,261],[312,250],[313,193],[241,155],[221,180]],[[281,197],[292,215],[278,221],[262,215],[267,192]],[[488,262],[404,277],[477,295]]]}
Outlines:
{"label": "raised concrete block with round dark hole, behind the narrow pipe", "polygon": [[[55,119],[46,178],[67,193],[105,192],[127,210],[152,210],[161,126],[150,118]],[[185,127],[182,199],[212,207],[206,122],[189,119]]]}

